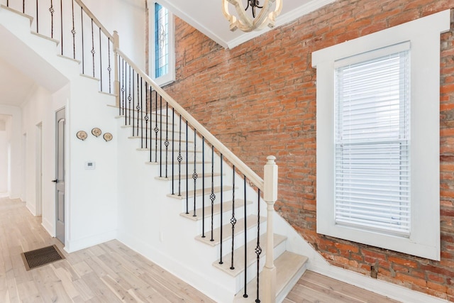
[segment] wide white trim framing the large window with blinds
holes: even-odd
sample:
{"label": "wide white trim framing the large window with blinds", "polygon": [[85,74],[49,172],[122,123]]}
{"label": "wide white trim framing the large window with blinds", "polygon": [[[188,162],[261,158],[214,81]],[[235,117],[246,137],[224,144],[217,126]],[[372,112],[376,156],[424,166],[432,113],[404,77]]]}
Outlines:
{"label": "wide white trim framing the large window with blinds", "polygon": [[[449,29],[446,10],[312,53],[317,69],[317,233],[440,260],[440,34]],[[336,225],[333,185],[336,61],[406,41],[411,45],[409,238]]]}

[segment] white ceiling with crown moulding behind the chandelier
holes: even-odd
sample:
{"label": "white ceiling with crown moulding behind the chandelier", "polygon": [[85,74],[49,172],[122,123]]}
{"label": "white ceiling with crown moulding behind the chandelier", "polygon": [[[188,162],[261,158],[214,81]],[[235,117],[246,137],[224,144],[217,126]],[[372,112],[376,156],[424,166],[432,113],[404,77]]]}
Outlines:
{"label": "white ceiling with crown moulding behind the chandelier", "polygon": [[[282,26],[285,23],[319,9],[321,6],[330,4],[335,0],[282,0],[282,13],[277,16],[276,26]],[[270,31],[265,28],[262,31],[243,33],[239,30],[231,32],[229,24],[222,13],[221,0],[161,0],[163,6],[167,7],[172,13],[182,18],[184,21],[194,26],[197,30],[204,33],[212,40],[216,41],[224,48],[234,48],[252,38]],[[246,7],[247,0],[243,0]],[[232,5],[229,5],[229,11],[235,11]]]}

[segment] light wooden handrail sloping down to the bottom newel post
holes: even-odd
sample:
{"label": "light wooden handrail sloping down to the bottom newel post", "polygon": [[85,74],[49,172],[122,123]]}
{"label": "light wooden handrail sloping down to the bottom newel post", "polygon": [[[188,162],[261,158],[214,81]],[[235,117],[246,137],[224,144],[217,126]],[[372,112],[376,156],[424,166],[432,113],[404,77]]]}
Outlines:
{"label": "light wooden handrail sloping down to the bottom newel post", "polygon": [[156,84],[156,82],[153,81],[153,79],[150,78],[150,76],[146,75],[145,72],[143,72],[137,65],[134,64],[134,62],[128,58],[127,55],[125,55],[121,50],[116,49],[115,50],[118,55],[123,57],[123,59],[128,62],[128,65],[130,65],[135,72],[140,75],[143,79],[145,79],[148,84],[150,84],[150,87],[153,87],[155,91],[160,94],[161,97],[167,101],[172,108],[175,109],[179,114],[182,115],[182,117],[192,126],[196,129],[196,131],[199,132],[201,136],[205,138],[206,141],[211,143],[218,151],[219,153],[223,154],[224,157],[226,157],[235,167],[245,175],[250,182],[252,182],[258,189],[261,191],[264,190],[263,188],[263,179],[257,175],[253,170],[248,167],[248,165],[245,165],[243,161],[241,161],[234,153],[229,150],[226,145],[223,145],[221,141],[218,141],[218,139],[213,136],[204,126],[202,126],[199,121],[196,121],[191,114],[189,114],[181,105],[175,101],[172,97],[170,97],[167,92],[164,91],[164,89],[160,88],[159,85]]}

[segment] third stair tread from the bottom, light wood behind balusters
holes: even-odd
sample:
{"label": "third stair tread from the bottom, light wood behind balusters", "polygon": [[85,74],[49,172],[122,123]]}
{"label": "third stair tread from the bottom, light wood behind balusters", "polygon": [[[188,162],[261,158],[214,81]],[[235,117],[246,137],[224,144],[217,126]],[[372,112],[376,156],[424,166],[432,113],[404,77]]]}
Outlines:
{"label": "third stair tread from the bottom, light wood behind balusters", "polygon": [[[227,224],[223,226],[223,231],[222,231],[222,241],[226,241],[230,238],[232,238],[232,224],[230,223],[230,219],[226,220]],[[267,219],[263,216],[260,216],[260,223],[263,223],[267,221]],[[253,228],[254,226],[257,226],[257,216],[255,215],[250,215],[247,217],[247,229]],[[238,219],[235,224],[235,234],[237,235],[238,233],[242,233],[244,231],[244,219]],[[219,243],[221,243],[221,227],[214,228],[213,230],[214,234],[214,241],[211,241],[211,231],[206,231],[205,232],[205,238],[202,238],[201,235],[196,236],[196,240],[199,240],[205,244],[208,244],[209,246],[216,246]],[[231,246],[229,246],[231,247]],[[228,248],[226,248],[228,249]]]}

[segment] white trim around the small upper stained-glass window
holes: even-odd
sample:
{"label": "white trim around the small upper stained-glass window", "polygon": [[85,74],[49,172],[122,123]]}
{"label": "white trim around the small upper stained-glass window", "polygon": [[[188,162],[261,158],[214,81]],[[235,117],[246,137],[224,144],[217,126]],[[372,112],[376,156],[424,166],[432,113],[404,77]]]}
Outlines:
{"label": "white trim around the small upper stained-glass window", "polygon": [[150,9],[150,13],[148,15],[150,25],[150,76],[160,87],[163,87],[175,81],[175,21],[173,14],[166,7],[167,11],[169,12],[169,72],[167,73],[167,75],[155,78],[155,3],[166,7],[163,1],[148,2],[148,8]]}

